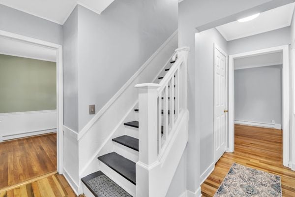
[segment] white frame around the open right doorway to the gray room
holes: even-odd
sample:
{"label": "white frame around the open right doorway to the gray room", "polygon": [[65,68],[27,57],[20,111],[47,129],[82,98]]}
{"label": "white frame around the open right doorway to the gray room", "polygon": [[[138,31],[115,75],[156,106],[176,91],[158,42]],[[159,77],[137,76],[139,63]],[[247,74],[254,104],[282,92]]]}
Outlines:
{"label": "white frame around the open right doorway to the gray room", "polygon": [[289,167],[289,45],[265,48],[229,56],[229,152],[235,150],[235,89],[234,89],[234,60],[255,55],[283,52],[283,165]]}

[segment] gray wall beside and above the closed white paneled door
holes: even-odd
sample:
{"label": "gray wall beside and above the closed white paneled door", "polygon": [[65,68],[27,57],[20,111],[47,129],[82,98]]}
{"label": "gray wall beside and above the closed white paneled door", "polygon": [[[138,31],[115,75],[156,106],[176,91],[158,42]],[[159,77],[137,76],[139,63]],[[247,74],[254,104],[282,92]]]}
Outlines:
{"label": "gray wall beside and above the closed white paneled door", "polygon": [[227,53],[227,41],[215,29],[196,34],[196,62],[199,65],[200,87],[200,173],[213,163],[214,43]]}

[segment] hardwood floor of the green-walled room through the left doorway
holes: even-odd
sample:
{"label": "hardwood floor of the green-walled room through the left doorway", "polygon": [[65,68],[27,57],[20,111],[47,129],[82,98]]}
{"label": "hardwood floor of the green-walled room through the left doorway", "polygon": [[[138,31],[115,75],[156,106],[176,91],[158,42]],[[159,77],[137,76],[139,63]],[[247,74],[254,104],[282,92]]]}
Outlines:
{"label": "hardwood floor of the green-walled room through the left doorway", "polygon": [[56,170],[56,133],[0,143],[0,190]]}

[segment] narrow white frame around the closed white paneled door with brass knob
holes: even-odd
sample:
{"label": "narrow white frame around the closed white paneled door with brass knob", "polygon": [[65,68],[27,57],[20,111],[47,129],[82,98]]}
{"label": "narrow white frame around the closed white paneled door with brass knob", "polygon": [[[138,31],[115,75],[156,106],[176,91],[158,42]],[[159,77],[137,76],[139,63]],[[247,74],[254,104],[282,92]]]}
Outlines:
{"label": "narrow white frame around the closed white paneled door with brass knob", "polygon": [[[228,109],[228,55],[227,53],[221,48],[219,47],[216,43],[214,43],[214,46],[213,46],[213,161],[214,161],[214,164],[216,164],[217,161],[215,161],[215,48],[220,51],[225,57],[226,57],[226,63],[225,63],[225,67],[226,67],[226,71],[225,71],[225,105],[226,105],[226,109]],[[226,120],[226,123],[225,123],[225,151],[228,152],[227,150],[227,147],[228,147],[228,113],[226,113],[225,115],[225,120]]]}

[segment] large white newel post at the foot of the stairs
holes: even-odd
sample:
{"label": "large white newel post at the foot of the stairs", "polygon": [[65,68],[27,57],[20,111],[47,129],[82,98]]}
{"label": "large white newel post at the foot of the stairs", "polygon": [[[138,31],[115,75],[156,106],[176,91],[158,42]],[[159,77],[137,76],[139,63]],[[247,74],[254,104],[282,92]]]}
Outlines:
{"label": "large white newel post at the foot of the stairs", "polygon": [[136,196],[149,197],[151,168],[157,164],[157,98],[159,84],[135,86],[139,90],[139,161],[136,164]]}

